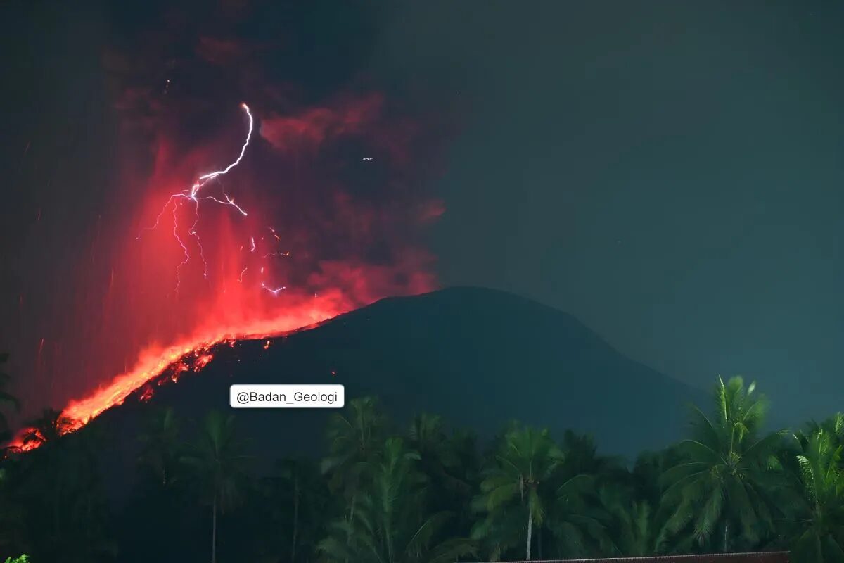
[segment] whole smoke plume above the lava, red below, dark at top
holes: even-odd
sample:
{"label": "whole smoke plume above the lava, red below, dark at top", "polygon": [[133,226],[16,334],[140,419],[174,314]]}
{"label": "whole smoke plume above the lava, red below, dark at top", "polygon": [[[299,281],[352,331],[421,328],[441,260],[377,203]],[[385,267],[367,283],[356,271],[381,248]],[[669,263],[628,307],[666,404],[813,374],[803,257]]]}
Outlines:
{"label": "whole smoke plume above the lava, red below, dark at top", "polygon": [[[35,350],[16,366],[31,374],[30,414],[69,402],[84,419],[188,350],[436,287],[420,235],[443,211],[424,190],[441,115],[399,106],[348,59],[334,83],[330,65],[304,72],[297,52],[311,40],[292,28],[247,41],[265,8],[224,2],[201,21],[165,11],[104,50],[119,158],[103,165],[118,181],[93,203],[90,259],[52,273],[64,291],[22,334]],[[170,201],[236,158],[243,102],[255,117],[246,154],[198,195],[233,198],[246,216]]]}

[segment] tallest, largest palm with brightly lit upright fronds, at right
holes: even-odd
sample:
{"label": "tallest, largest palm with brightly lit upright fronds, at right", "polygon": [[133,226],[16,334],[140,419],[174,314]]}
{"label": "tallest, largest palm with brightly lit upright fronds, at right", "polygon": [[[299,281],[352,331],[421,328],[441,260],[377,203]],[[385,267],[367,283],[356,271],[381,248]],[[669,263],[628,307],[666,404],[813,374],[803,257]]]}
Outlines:
{"label": "tallest, largest palm with brightly lit upright fronds, at right", "polygon": [[718,530],[717,543],[728,552],[733,536],[753,547],[772,531],[771,473],[765,470],[782,438],[760,437],[766,402],[754,391],[754,383],[745,390],[741,377],[727,384],[719,377],[714,418],[693,409],[693,437],[679,444],[684,458],[663,474],[663,498],[672,508],[666,533],[683,536],[681,549],[713,544]]}

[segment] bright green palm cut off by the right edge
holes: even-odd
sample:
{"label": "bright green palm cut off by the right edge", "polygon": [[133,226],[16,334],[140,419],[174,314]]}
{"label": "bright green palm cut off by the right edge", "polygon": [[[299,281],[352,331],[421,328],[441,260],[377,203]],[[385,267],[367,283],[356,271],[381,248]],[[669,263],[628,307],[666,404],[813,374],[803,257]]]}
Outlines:
{"label": "bright green palm cut off by the right edge", "polygon": [[793,519],[796,563],[844,561],[844,470],[834,433],[823,427],[811,433],[797,456],[800,499]]}

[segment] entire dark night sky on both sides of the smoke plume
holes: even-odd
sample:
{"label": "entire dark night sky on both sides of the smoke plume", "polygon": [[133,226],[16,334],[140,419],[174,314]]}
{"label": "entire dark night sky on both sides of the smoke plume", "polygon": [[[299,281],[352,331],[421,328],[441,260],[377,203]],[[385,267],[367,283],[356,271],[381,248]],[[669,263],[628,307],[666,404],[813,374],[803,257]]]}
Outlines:
{"label": "entire dark night sky on both sides of the smoke plume", "polygon": [[[13,356],[21,291],[27,315],[61,317],[64,273],[98,217],[128,205],[112,197],[125,145],[103,54],[143,53],[140,30],[160,26],[131,4],[0,8],[0,346]],[[783,423],[844,408],[844,5],[308,5],[227,19],[246,3],[224,2],[212,21],[195,3],[185,35],[284,30],[267,68],[300,99],[363,83],[447,117],[419,186],[446,208],[426,231],[442,285],[568,311],[698,387],[757,379]],[[135,78],[170,76],[149,52]],[[208,100],[225,88],[203,84]]]}

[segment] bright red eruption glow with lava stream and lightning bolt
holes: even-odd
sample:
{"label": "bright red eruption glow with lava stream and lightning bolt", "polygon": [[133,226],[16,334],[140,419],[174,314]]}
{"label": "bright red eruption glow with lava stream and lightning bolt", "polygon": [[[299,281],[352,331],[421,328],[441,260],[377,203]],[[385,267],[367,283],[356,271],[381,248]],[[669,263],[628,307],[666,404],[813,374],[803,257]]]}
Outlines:
{"label": "bright red eruption glow with lava stream and lightning bolt", "polygon": [[[430,257],[409,243],[407,234],[408,227],[440,214],[441,205],[419,198],[400,207],[395,196],[403,179],[389,166],[360,158],[358,152],[340,158],[330,152],[334,144],[372,135],[375,142],[367,143],[365,154],[375,150],[384,155],[381,160],[392,156],[393,171],[404,167],[407,154],[402,151],[409,149],[414,132],[407,122],[387,127],[383,108],[382,96],[371,95],[298,116],[268,112],[261,120],[241,104],[246,137],[236,158],[215,171],[193,174],[192,183],[180,178],[205,168],[219,158],[215,154],[234,152],[226,151],[228,143],[222,140],[230,135],[214,135],[221,139],[219,148],[187,153],[166,135],[157,136],[154,169],[138,208],[140,228],[131,238],[123,230],[109,239],[114,258],[101,295],[89,283],[91,271],[80,281],[87,285],[80,295],[88,298],[80,303],[90,305],[91,295],[99,297],[101,312],[95,319],[90,312],[76,319],[93,320],[94,328],[85,324],[73,333],[76,328],[69,323],[71,333],[63,337],[79,353],[76,358],[84,360],[86,379],[92,371],[103,375],[94,376],[95,390],[78,393],[76,385],[57,392],[56,374],[51,374],[58,400],[65,391],[82,397],[65,399],[61,433],[78,430],[121,404],[168,366],[177,366],[174,373],[200,370],[220,344],[272,338],[381,297],[436,287],[428,271]],[[260,137],[255,138],[256,131]],[[322,157],[327,152],[330,160]],[[369,170],[351,170],[353,162]],[[349,188],[344,174],[359,176],[365,189]],[[171,188],[179,183],[189,187]],[[382,198],[384,192],[368,185],[376,183],[386,184],[390,197]],[[162,197],[162,192],[169,195]],[[92,266],[96,250],[97,241]],[[109,367],[121,357],[127,368],[108,379]],[[146,387],[141,398],[149,398],[152,390]],[[27,432],[30,440],[24,441]],[[41,443],[37,433],[22,430],[13,445],[25,450]]]}

